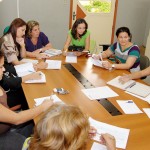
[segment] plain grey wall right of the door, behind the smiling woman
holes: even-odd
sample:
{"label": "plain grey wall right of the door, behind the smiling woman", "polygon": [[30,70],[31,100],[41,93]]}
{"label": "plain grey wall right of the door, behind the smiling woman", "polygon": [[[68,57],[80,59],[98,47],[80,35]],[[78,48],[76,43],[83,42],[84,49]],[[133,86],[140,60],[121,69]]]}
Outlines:
{"label": "plain grey wall right of the door, behind the smiling woman", "polygon": [[116,29],[121,26],[129,27],[133,35],[132,41],[138,45],[145,44],[145,36],[149,31],[146,29],[147,19],[150,17],[149,6],[150,0],[118,0]]}

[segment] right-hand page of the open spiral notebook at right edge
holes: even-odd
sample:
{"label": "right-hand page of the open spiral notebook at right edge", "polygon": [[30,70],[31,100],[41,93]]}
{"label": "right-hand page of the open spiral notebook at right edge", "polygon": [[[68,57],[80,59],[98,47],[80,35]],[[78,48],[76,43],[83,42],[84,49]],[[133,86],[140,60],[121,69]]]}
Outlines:
{"label": "right-hand page of the open spiral notebook at right edge", "polygon": [[141,97],[147,97],[150,94],[150,86],[136,82],[134,86],[127,88],[126,91]]}

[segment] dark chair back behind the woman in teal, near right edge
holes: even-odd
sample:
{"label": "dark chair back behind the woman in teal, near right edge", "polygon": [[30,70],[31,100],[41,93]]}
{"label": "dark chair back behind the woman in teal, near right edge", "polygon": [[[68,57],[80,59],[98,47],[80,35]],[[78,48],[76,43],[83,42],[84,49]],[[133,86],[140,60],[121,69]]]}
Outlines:
{"label": "dark chair back behind the woman in teal, near right edge", "polygon": [[[149,58],[147,56],[141,55],[140,56],[140,69],[144,70],[144,69],[146,69],[149,66],[150,66],[150,60],[149,60]],[[147,76],[142,77],[141,79],[145,79],[146,77]]]}

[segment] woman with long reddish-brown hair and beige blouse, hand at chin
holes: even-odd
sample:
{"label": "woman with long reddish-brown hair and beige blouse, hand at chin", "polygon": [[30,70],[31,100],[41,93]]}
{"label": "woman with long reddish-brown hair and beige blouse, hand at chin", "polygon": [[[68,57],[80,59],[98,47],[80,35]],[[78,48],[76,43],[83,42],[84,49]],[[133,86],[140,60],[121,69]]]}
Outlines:
{"label": "woman with long reddish-brown hair and beige blouse, hand at chin", "polygon": [[[25,49],[25,36],[26,22],[21,18],[16,18],[12,21],[8,32],[3,36],[4,42],[2,43],[1,49],[5,54],[5,64],[7,65],[19,65],[24,62],[20,61],[26,57]],[[34,64],[34,68],[45,69],[48,64],[41,62]]]}

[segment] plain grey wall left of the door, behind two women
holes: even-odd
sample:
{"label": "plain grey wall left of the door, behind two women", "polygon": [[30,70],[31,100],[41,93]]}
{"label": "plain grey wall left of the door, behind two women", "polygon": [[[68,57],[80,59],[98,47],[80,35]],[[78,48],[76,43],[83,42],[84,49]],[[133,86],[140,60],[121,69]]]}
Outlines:
{"label": "plain grey wall left of the door, behind two women", "polygon": [[[17,0],[0,3],[0,35],[4,27],[17,17],[16,5]],[[63,48],[69,29],[69,0],[19,0],[19,10],[20,18],[40,23],[41,31],[49,37],[54,48]]]}

